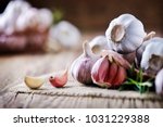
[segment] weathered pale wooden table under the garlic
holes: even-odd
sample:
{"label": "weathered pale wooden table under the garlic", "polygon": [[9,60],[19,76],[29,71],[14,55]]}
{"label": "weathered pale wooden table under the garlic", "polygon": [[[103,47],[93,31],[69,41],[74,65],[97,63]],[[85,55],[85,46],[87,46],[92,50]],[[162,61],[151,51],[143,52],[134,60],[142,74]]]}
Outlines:
{"label": "weathered pale wooden table under the garlic", "polygon": [[25,75],[58,73],[80,52],[0,55],[0,107],[163,107],[163,98],[154,93],[86,87],[71,75],[60,89],[48,82],[38,90],[25,86]]}

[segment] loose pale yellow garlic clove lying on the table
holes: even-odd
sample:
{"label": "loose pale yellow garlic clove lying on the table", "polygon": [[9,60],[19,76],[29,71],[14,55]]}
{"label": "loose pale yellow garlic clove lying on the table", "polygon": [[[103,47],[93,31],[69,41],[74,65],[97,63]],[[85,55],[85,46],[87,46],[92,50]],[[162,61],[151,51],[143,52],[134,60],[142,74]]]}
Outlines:
{"label": "loose pale yellow garlic clove lying on the table", "polygon": [[43,85],[45,78],[25,76],[24,81],[30,89],[38,89]]}

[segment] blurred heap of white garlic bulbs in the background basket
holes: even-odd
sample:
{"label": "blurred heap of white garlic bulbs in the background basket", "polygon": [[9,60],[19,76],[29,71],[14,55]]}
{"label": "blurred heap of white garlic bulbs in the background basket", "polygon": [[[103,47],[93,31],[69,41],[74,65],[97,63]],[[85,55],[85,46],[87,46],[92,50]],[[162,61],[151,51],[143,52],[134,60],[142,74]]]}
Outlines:
{"label": "blurred heap of white garlic bulbs in the background basket", "polygon": [[0,33],[7,35],[28,29],[45,31],[52,24],[52,13],[48,9],[39,10],[30,7],[28,2],[15,0],[8,4],[0,21]]}

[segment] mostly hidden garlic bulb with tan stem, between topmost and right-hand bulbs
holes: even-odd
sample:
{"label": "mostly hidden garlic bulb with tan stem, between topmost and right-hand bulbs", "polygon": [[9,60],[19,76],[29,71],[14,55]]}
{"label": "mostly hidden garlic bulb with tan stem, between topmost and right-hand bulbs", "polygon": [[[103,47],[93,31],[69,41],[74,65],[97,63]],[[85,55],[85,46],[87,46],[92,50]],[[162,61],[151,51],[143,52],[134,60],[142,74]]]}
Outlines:
{"label": "mostly hidden garlic bulb with tan stem, between topmost and right-hand bulbs", "polygon": [[142,58],[142,53],[146,49],[146,47],[152,42],[150,39],[152,39],[155,35],[155,31],[151,31],[149,33],[146,38],[143,38],[143,42],[142,45],[136,50],[136,64],[139,67],[140,66],[140,62],[141,62],[141,58]]}

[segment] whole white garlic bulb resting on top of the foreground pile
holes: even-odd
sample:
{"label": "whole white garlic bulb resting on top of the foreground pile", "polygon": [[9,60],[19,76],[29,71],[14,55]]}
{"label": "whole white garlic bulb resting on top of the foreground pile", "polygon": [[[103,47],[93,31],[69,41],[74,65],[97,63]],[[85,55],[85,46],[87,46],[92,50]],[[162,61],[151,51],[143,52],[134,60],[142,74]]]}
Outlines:
{"label": "whole white garlic bulb resting on top of the foreground pile", "polygon": [[131,14],[114,18],[105,31],[108,41],[118,53],[134,52],[141,46],[146,35],[142,23]]}

